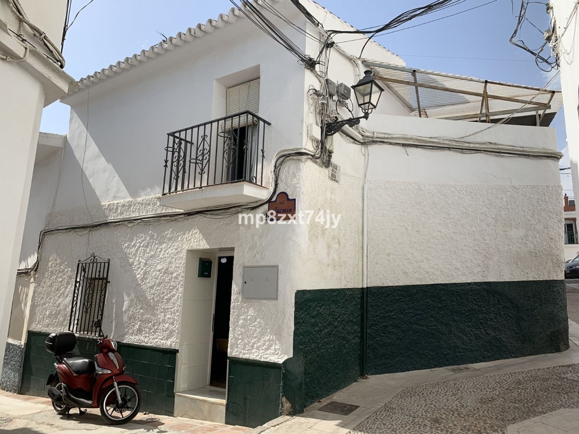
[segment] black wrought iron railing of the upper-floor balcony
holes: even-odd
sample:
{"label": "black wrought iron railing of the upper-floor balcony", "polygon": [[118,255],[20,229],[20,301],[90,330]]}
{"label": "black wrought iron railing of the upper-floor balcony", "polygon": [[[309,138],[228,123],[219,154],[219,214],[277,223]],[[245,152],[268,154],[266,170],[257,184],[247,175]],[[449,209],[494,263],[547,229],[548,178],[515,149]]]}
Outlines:
{"label": "black wrought iron railing of the upper-floor balcony", "polygon": [[163,194],[235,181],[263,185],[269,125],[247,111],[168,133]]}

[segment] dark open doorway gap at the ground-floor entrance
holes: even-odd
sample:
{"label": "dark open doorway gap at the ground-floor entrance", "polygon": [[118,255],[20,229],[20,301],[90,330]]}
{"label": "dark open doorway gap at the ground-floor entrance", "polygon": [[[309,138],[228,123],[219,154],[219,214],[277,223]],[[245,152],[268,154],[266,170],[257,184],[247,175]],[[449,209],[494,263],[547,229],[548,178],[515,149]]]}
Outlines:
{"label": "dark open doorway gap at the ground-floor entrance", "polygon": [[227,380],[227,348],[229,343],[229,314],[231,312],[231,286],[233,284],[233,256],[219,256],[217,262],[217,288],[213,316],[213,341],[211,351],[211,376],[209,384],[225,388]]}

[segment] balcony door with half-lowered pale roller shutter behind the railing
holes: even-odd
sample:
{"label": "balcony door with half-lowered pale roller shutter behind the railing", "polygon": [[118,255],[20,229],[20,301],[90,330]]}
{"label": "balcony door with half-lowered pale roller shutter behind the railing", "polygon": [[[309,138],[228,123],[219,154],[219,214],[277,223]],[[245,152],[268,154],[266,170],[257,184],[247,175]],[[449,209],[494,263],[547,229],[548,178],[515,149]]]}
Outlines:
{"label": "balcony door with half-lowered pale roller shutter behind the railing", "polygon": [[[227,181],[250,181],[258,160],[258,124],[247,112],[259,113],[259,79],[230,87],[226,96],[226,116],[228,120],[228,141],[225,144]],[[244,113],[239,115],[239,113]],[[235,116],[238,115],[238,116]]]}

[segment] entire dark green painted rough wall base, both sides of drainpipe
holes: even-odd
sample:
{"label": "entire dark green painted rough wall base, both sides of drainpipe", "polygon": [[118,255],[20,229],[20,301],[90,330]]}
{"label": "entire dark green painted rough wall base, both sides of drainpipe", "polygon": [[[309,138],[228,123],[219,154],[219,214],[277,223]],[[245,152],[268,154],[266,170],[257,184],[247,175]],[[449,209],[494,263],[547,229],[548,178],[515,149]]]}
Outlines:
{"label": "entire dark green painted rough wall base, both sides of drainpipe", "polygon": [[[292,411],[360,376],[362,295],[360,288],[296,292],[294,357],[284,362],[283,388]],[[368,374],[569,348],[565,281],[380,286],[367,297]]]}

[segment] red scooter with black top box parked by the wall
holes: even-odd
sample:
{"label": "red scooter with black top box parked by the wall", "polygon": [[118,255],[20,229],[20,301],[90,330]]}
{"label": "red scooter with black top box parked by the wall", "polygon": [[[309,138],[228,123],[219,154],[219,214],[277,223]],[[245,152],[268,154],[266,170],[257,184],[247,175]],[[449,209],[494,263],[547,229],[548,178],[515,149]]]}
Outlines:
{"label": "red scooter with black top box parked by the wall", "polygon": [[94,361],[72,354],[76,336],[72,332],[52,333],[46,338],[46,351],[54,354],[56,373],[50,374],[48,396],[54,411],[68,414],[72,408],[100,409],[102,418],[112,425],[132,420],[141,407],[138,382],[124,373],[124,361],[116,352],[116,342],[102,334],[101,322],[94,322],[100,330],[96,345],[100,354]]}

